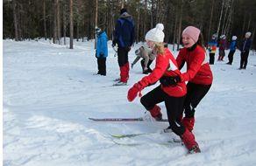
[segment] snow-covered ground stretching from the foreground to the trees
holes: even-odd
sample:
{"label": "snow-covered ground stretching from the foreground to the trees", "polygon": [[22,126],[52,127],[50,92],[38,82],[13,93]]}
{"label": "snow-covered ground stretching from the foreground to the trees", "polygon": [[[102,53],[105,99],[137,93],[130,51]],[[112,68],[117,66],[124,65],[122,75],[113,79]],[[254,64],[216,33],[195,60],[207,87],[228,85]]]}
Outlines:
{"label": "snow-covered ground stretching from the foreground to the trees", "polygon": [[[160,134],[167,122],[89,121],[144,116],[138,98],[126,100],[128,88],[144,76],[139,62],[129,86],[110,86],[119,74],[110,43],[106,77],[93,75],[93,42],[75,42],[74,50],[45,40],[3,43],[4,166],[256,164],[255,53],[246,70],[238,70],[239,51],[232,66],[225,65],[227,56],[211,66],[214,83],[197,107],[194,130],[202,153],[187,156],[180,143],[167,143],[171,134]],[[110,136],[134,133],[152,134]]]}

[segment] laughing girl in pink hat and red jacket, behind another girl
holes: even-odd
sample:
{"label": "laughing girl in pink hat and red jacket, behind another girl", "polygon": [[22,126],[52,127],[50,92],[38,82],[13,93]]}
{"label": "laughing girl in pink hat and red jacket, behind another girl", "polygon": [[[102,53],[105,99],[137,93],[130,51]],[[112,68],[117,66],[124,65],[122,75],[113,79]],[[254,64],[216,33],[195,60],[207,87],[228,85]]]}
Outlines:
{"label": "laughing girl in pink hat and red jacket, behind another girl", "polygon": [[188,81],[188,92],[184,102],[185,117],[182,123],[189,131],[194,127],[196,106],[208,93],[212,83],[212,73],[206,60],[202,40],[200,30],[188,26],[182,32],[184,48],[180,50],[176,59],[180,70],[184,63],[187,64],[187,72],[181,74],[181,81]]}

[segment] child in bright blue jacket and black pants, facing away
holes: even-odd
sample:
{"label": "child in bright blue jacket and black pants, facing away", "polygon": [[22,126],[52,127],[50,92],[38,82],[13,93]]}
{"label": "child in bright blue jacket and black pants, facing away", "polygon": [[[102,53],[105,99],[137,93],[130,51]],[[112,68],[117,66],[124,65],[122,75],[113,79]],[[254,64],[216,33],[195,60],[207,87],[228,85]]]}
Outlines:
{"label": "child in bright blue jacket and black pants, facing away", "polygon": [[96,59],[98,65],[98,73],[106,75],[106,59],[108,57],[108,37],[105,31],[101,31],[96,27],[97,43],[96,43]]}

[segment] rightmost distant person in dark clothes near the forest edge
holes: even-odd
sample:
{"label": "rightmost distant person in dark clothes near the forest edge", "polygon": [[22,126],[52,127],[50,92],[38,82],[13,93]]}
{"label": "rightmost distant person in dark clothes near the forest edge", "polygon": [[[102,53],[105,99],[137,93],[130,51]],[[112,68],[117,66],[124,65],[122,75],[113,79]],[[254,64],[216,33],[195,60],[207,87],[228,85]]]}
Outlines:
{"label": "rightmost distant person in dark clothes near the forest edge", "polygon": [[243,43],[240,47],[240,51],[241,51],[241,60],[240,60],[240,68],[239,68],[240,70],[246,69],[246,66],[247,66],[249,51],[252,45],[251,35],[252,33],[250,31],[245,33],[245,39],[243,40]]}

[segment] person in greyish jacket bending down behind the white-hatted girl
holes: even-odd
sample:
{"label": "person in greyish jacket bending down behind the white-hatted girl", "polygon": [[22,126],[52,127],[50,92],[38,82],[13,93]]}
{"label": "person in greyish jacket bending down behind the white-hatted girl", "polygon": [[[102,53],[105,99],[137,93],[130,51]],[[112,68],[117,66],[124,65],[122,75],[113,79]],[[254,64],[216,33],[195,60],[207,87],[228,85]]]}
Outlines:
{"label": "person in greyish jacket bending down behind the white-hatted girl", "polygon": [[150,65],[152,64],[153,59],[155,59],[155,54],[152,52],[152,50],[148,46],[143,45],[135,51],[135,54],[137,55],[137,57],[132,62],[132,68],[139,61],[139,59],[142,58],[142,60],[140,61],[142,73],[151,73],[152,70],[150,68]]}

